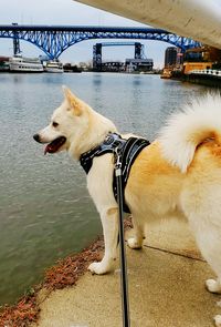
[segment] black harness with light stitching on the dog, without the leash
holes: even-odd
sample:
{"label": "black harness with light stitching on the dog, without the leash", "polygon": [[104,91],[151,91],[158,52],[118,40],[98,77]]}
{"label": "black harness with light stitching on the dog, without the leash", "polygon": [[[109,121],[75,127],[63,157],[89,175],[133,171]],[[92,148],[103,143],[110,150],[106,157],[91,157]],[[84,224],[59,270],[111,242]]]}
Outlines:
{"label": "black harness with light stitching on the dog, without the leash", "polygon": [[[93,159],[95,156],[101,156],[106,153],[114,153],[116,156],[116,150],[117,150],[118,160],[120,160],[120,163],[122,163],[122,183],[123,183],[123,191],[124,191],[135,159],[140,153],[140,151],[149,144],[150,144],[149,141],[145,139],[129,137],[128,140],[125,140],[116,133],[110,133],[105,137],[102,144],[83,153],[80,157],[80,163],[82,167],[84,168],[84,171],[86,172],[86,174],[88,174],[93,165]],[[115,200],[117,201],[117,186],[116,186],[115,174],[113,176],[113,192],[114,192]],[[125,197],[124,197],[124,212],[130,213],[127,204],[125,203]]]}

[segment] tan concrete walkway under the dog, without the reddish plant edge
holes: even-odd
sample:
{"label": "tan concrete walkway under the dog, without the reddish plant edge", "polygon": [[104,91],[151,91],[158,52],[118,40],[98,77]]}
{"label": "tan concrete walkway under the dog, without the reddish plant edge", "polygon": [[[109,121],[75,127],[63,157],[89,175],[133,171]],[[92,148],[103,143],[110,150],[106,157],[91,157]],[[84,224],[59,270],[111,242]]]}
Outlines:
{"label": "tan concrete walkway under the dog, without the reddish plant edge", "polygon": [[[129,232],[130,233],[130,232]],[[213,273],[187,225],[162,223],[147,233],[141,251],[127,248],[131,327],[212,327],[221,299],[204,288]],[[120,327],[119,270],[86,273],[77,285],[41,304],[39,327]],[[41,292],[39,300],[44,298]]]}

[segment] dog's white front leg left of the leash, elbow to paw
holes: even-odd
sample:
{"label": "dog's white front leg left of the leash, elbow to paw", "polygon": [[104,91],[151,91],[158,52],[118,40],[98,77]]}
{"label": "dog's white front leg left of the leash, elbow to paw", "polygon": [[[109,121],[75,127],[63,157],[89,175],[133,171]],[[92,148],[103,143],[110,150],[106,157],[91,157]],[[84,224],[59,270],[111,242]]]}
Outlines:
{"label": "dog's white front leg left of the leash, elbow to paw", "polygon": [[109,273],[114,267],[118,239],[118,210],[116,207],[105,210],[101,214],[105,253],[101,263],[93,263],[88,266],[92,273],[102,275]]}

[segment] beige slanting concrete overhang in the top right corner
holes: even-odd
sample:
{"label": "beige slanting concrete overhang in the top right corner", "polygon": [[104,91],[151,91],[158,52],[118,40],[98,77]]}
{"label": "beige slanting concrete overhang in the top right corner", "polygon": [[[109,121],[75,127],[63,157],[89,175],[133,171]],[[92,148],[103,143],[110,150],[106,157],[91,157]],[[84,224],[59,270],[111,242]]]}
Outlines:
{"label": "beige slanting concrete overhang in the top right corner", "polygon": [[221,49],[218,0],[77,0]]}

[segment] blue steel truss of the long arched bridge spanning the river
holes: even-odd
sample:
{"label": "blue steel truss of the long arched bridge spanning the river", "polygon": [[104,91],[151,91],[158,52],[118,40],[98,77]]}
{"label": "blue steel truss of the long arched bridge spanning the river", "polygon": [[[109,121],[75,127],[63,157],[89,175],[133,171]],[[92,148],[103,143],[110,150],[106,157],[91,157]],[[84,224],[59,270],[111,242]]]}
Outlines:
{"label": "blue steel truss of the long arched bridge spanning the river", "polygon": [[28,41],[39,47],[50,59],[57,59],[67,48],[92,39],[136,39],[164,41],[183,52],[200,43],[161,29],[118,27],[62,27],[62,25],[0,25],[0,38]]}

